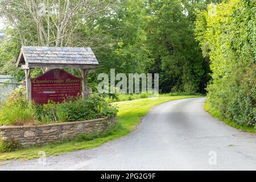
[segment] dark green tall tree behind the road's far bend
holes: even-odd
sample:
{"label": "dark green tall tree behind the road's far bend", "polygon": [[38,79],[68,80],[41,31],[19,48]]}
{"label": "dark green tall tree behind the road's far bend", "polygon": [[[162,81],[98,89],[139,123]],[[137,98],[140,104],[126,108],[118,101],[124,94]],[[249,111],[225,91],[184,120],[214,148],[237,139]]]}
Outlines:
{"label": "dark green tall tree behind the road's far bend", "polygon": [[[186,2],[186,3],[184,3]],[[148,69],[160,73],[162,92],[204,92],[209,64],[193,36],[195,3],[148,1],[148,48],[154,63]]]}

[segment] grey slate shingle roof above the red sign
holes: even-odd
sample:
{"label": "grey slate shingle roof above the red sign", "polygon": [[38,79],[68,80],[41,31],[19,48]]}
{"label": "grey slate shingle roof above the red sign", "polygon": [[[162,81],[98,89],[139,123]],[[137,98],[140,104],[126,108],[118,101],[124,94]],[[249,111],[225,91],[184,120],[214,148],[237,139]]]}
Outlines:
{"label": "grey slate shingle roof above the red sign", "polygon": [[22,46],[20,55],[16,60],[17,67],[19,65],[32,67],[46,67],[49,64],[63,65],[68,68],[68,65],[77,65],[77,68],[82,65],[91,65],[96,67],[98,61],[92,49],[89,47],[27,47]]}

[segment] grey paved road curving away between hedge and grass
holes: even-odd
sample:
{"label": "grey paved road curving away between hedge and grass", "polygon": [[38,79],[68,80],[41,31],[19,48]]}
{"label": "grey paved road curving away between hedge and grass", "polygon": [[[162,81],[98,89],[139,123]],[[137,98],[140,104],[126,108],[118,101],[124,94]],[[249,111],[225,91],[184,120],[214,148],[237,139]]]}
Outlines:
{"label": "grey paved road curving away between hedge and grass", "polygon": [[204,100],[158,105],[130,135],[92,150],[49,156],[46,163],[15,160],[0,170],[255,170],[256,135],[213,118]]}

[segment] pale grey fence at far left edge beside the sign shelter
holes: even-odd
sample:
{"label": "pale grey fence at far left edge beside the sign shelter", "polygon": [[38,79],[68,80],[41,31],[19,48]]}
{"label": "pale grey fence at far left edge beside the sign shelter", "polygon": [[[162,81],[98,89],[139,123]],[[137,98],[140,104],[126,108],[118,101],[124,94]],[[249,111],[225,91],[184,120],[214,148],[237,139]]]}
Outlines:
{"label": "pale grey fence at far left edge beside the sign shelter", "polygon": [[16,82],[15,77],[0,75],[0,104],[6,100],[9,94],[22,85]]}

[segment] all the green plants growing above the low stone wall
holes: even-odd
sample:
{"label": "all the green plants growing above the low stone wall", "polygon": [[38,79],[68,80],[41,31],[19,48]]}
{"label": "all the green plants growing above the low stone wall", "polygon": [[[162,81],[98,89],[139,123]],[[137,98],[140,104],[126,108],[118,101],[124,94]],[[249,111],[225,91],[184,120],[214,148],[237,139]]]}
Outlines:
{"label": "all the green plants growing above the low stone wall", "polygon": [[0,125],[34,125],[51,122],[83,121],[117,114],[114,106],[99,96],[66,98],[64,102],[35,105],[26,99],[26,88],[16,89],[0,110]]}

